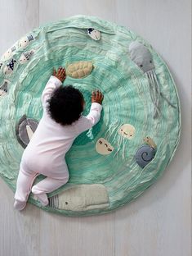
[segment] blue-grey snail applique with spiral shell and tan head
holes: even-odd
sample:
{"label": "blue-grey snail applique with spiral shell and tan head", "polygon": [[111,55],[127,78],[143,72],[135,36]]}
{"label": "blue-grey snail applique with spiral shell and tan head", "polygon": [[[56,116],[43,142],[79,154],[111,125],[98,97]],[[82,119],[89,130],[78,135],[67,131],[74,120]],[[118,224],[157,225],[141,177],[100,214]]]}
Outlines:
{"label": "blue-grey snail applique with spiral shell and tan head", "polygon": [[157,148],[154,140],[149,136],[145,137],[144,141],[145,144],[136,151],[135,156],[136,162],[141,168],[144,168],[150,161],[153,160]]}

